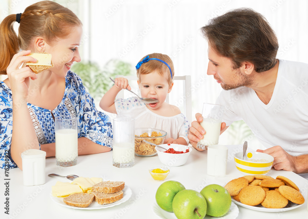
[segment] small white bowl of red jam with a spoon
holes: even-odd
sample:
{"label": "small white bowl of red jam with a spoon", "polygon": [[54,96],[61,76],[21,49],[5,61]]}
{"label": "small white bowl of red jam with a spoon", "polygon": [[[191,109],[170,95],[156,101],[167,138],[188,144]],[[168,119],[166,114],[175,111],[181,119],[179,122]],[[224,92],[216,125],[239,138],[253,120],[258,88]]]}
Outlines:
{"label": "small white bowl of red jam with a spoon", "polygon": [[169,167],[177,167],[186,163],[192,148],[180,144],[161,144],[160,146],[168,148],[164,150],[160,147],[155,147],[158,158],[161,163]]}

